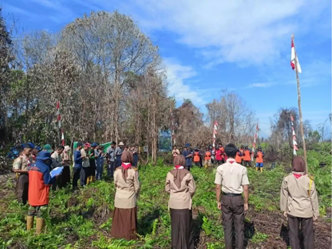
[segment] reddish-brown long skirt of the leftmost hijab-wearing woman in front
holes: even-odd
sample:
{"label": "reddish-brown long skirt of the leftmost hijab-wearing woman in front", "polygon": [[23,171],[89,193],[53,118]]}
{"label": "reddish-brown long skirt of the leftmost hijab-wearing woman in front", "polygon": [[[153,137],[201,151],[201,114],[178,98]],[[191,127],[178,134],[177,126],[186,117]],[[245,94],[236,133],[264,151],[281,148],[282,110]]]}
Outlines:
{"label": "reddish-brown long skirt of the leftmost hijab-wearing woman in front", "polygon": [[136,239],[137,231],[137,209],[115,208],[111,227],[111,237],[116,239]]}

